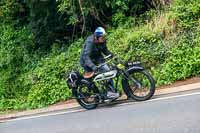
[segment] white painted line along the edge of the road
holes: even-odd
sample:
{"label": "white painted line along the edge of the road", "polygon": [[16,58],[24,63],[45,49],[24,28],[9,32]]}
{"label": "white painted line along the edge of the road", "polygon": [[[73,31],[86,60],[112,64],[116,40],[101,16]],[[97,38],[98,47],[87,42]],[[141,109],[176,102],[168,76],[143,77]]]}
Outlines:
{"label": "white painted line along the edge of the road", "polygon": [[[195,93],[190,93],[190,94],[183,94],[183,95],[176,95],[176,96],[160,97],[160,98],[150,99],[150,100],[147,100],[147,101],[137,102],[137,103],[162,101],[162,100],[167,100],[167,99],[187,97],[187,96],[193,96],[193,95],[200,95],[200,92],[195,92]],[[136,103],[136,102],[122,103],[122,104],[119,104],[119,105],[120,106],[124,106],[124,105],[131,105],[131,104],[134,104],[134,103]],[[1,122],[12,122],[12,121],[34,119],[34,118],[40,118],[40,117],[46,117],[46,116],[55,116],[55,115],[69,114],[69,113],[75,113],[75,112],[82,112],[82,111],[85,111],[85,110],[86,109],[77,109],[77,110],[65,111],[65,112],[58,112],[58,113],[49,113],[49,114],[42,114],[42,115],[36,115],[36,116],[27,116],[27,117],[12,119],[12,120],[5,120],[5,121],[1,121]]]}

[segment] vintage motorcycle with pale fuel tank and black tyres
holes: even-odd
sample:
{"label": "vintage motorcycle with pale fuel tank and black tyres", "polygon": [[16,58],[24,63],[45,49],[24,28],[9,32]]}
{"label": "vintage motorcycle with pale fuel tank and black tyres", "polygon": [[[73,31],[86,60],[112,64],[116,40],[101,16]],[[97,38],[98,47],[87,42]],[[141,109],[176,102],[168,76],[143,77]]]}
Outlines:
{"label": "vintage motorcycle with pale fuel tank and black tyres", "polygon": [[[115,90],[120,92],[123,90],[128,99],[144,101],[154,95],[155,81],[140,62],[124,62],[117,56],[111,58],[111,55],[106,56],[105,60],[110,67],[108,72],[97,72],[90,78],[85,78],[79,72],[67,74],[67,84],[83,108],[94,109],[101,103],[110,103],[116,100],[106,97],[110,79],[114,81]],[[98,68],[105,63],[100,64]],[[119,81],[121,84],[118,83]],[[120,88],[122,89],[120,90]]]}

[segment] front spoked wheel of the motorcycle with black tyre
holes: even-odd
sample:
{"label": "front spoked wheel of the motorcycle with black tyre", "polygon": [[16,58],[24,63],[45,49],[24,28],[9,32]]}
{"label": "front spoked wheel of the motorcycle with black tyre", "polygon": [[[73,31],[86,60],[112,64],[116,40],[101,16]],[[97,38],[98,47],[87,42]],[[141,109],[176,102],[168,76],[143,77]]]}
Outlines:
{"label": "front spoked wheel of the motorcycle with black tyre", "polygon": [[130,97],[137,101],[148,100],[155,92],[154,79],[145,70],[130,72],[126,84]]}

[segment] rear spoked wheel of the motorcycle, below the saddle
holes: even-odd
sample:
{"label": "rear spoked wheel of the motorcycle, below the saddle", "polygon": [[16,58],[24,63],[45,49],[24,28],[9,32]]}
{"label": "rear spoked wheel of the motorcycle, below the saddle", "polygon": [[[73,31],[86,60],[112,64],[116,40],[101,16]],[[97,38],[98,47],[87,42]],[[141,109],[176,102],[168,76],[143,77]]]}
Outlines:
{"label": "rear spoked wheel of the motorcycle, below the saddle", "polygon": [[98,97],[92,91],[89,91],[87,86],[80,86],[74,90],[74,96],[77,102],[85,109],[95,109],[98,106]]}

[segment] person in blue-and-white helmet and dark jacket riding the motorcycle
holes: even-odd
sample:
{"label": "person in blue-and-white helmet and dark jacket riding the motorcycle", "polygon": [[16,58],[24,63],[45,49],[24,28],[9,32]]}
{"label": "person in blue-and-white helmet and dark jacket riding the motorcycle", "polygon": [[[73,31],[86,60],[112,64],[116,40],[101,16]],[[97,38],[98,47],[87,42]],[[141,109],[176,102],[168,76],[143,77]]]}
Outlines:
{"label": "person in blue-and-white helmet and dark jacket riding the motorcycle", "polygon": [[[90,35],[84,43],[80,57],[80,64],[84,68],[85,77],[87,78],[92,77],[94,72],[97,71],[98,64],[105,63],[103,55],[112,55],[112,53],[107,49],[105,35],[105,29],[98,27],[94,34]],[[101,73],[109,70],[110,68],[107,64],[99,68],[99,72]],[[118,98],[119,93],[115,92],[113,80],[109,80],[108,83],[110,84],[110,87],[108,87],[107,97],[111,99]]]}

